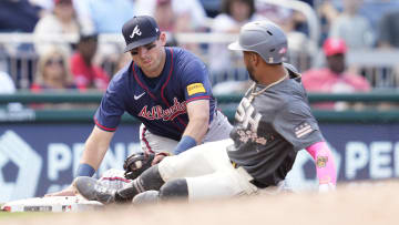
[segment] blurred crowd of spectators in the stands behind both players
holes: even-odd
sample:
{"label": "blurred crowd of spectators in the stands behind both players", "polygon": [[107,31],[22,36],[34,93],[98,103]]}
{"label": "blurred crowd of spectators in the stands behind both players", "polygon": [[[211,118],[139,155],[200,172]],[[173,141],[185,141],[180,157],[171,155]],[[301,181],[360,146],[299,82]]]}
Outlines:
{"label": "blurred crowd of spectators in the stands behind both players", "polygon": [[[136,14],[153,16],[161,30],[168,32],[168,45],[186,48],[204,59],[216,94],[242,93],[248,86],[241,55],[226,47],[242,24],[262,19],[286,31],[287,61],[303,73],[309,92],[397,89],[399,61],[395,63],[392,52],[399,48],[398,0],[300,1],[317,16],[317,40],[311,39],[306,13],[276,2],[283,1],[1,0],[0,93],[104,91],[131,59],[122,53],[122,39],[102,38],[121,35],[122,24]],[[1,38],[19,33],[31,35],[21,41],[8,38],[16,35]],[[177,38],[180,33],[214,33],[226,39],[196,42]],[[349,53],[354,54],[348,62]],[[387,55],[387,63],[377,63]]]}

